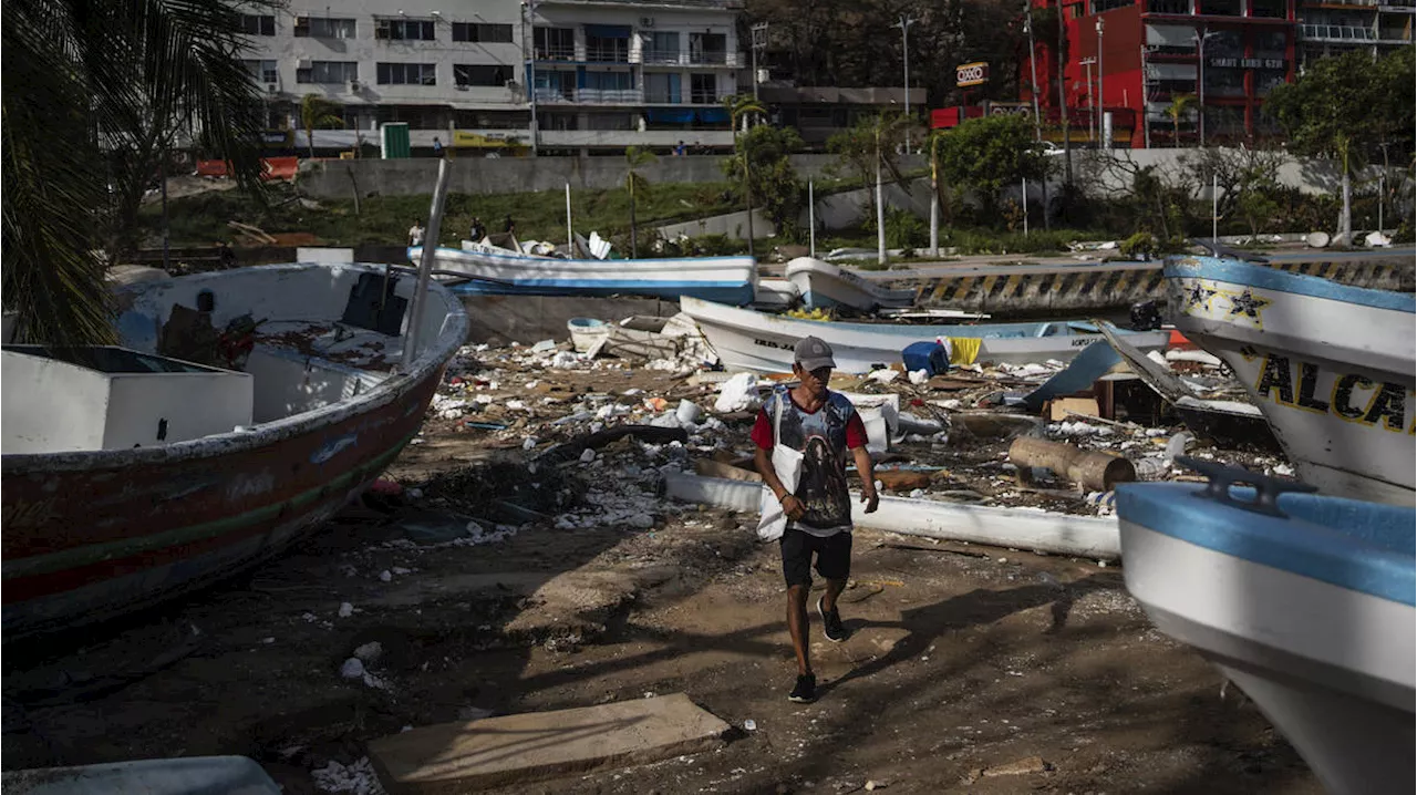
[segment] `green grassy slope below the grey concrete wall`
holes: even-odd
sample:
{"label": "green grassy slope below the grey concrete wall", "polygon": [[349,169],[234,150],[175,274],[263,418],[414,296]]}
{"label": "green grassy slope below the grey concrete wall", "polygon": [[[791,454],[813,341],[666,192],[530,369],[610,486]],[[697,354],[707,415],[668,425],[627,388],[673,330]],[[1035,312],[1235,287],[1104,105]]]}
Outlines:
{"label": "green grassy slope below the grey concrete wall", "polygon": [[[646,239],[652,225],[689,221],[735,210],[728,186],[723,183],[657,184],[636,203],[635,217]],[[402,245],[414,220],[427,225],[429,197],[377,196],[354,203],[349,200],[299,200],[289,188],[275,188],[271,204],[261,207],[235,190],[211,191],[169,203],[169,227],[173,245],[211,245],[232,239],[227,221],[252,224],[268,234],[310,232],[324,245],[360,244]],[[572,190],[571,214],[575,231],[602,237],[629,231],[629,193],[625,190]],[[565,191],[448,196],[439,242],[456,247],[468,237],[472,218],[480,217],[487,231],[500,232],[507,215],[516,222],[519,239],[565,239]],[[160,239],[162,211],[156,204],[143,208],[140,222],[149,244]]]}

